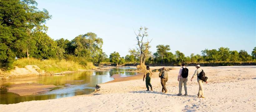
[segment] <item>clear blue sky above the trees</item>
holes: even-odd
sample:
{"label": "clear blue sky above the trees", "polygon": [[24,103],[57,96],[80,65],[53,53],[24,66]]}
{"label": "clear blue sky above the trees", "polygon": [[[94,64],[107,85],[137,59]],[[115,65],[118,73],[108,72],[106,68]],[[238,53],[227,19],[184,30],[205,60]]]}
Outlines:
{"label": "clear blue sky above the trees", "polygon": [[164,44],[185,56],[219,47],[251,54],[256,46],[255,0],[36,1],[52,15],[46,22],[51,38],[72,40],[94,32],[103,39],[107,55],[129,54],[136,46],[134,30],[140,26],[149,28],[152,52]]}

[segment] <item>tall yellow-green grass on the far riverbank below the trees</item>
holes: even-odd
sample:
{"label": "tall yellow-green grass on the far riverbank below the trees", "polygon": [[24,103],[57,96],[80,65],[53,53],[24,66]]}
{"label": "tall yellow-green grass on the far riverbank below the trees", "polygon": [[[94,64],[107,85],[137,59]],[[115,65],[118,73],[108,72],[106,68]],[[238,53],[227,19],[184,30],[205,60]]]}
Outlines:
{"label": "tall yellow-green grass on the far riverbank below the trees", "polygon": [[79,69],[92,69],[92,63],[86,63],[86,66],[79,64],[75,61],[70,60],[58,60],[58,59],[48,59],[48,60],[39,60],[35,58],[21,58],[14,61],[13,66],[18,66],[19,68],[23,68],[26,65],[36,65],[41,70],[46,72],[62,72],[62,71],[78,71]]}

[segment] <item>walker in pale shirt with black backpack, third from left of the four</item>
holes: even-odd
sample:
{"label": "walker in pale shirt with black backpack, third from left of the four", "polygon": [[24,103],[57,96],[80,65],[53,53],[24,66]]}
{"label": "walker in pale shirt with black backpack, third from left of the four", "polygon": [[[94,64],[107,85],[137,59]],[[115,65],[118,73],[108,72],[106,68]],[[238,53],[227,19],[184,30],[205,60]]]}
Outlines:
{"label": "walker in pale shirt with black backpack, third from left of the four", "polygon": [[189,74],[189,70],[185,67],[185,63],[182,63],[182,67],[180,68],[180,71],[179,71],[179,74],[178,74],[178,81],[179,81],[179,94],[178,94],[178,96],[182,95],[181,94],[182,84],[184,85],[185,96],[188,95],[188,92],[187,92],[188,74]]}

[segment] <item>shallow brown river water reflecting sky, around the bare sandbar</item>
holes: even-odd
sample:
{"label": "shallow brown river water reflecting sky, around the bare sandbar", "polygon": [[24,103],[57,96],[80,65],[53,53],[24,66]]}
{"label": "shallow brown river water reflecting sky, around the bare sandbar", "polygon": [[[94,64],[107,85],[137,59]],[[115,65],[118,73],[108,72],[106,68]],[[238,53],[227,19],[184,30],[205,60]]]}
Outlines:
{"label": "shallow brown river water reflecting sky, around the bare sandbar", "polygon": [[110,76],[120,74],[121,76],[136,75],[135,72],[129,72],[132,68],[116,68],[111,71],[85,71],[65,75],[48,75],[27,78],[13,78],[0,80],[1,87],[8,87],[14,84],[36,83],[43,85],[57,85],[54,90],[37,95],[20,96],[15,93],[7,92],[1,89],[0,104],[13,104],[31,100],[48,100],[75,95],[89,94],[94,91],[96,84],[105,83],[114,80]]}

